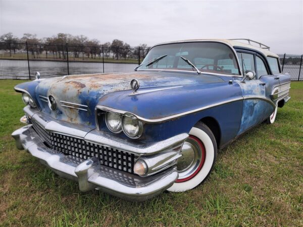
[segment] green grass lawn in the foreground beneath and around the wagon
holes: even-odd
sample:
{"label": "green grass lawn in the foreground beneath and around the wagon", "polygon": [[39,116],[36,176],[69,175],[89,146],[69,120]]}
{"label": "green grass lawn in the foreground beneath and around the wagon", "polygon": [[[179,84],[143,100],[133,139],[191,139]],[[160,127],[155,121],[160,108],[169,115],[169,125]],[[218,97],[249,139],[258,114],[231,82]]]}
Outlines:
{"label": "green grass lawn in the foreground beneath and around the wagon", "polygon": [[0,81],[0,225],[303,226],[303,83],[273,125],[262,124],[219,151],[210,178],[184,193],[162,193],[132,203],[81,193],[25,151],[11,133],[21,126],[23,103],[14,85]]}

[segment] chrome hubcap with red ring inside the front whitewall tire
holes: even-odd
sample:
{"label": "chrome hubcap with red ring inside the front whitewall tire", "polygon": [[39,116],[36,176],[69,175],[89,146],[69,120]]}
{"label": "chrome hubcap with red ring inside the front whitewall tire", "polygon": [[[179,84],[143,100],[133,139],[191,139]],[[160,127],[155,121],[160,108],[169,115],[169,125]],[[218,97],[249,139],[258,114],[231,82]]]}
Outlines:
{"label": "chrome hubcap with red ring inside the front whitewall tire", "polygon": [[[187,138],[181,148],[182,157],[178,159],[177,171],[179,178],[177,182],[186,181],[186,179],[196,175],[201,167],[201,162],[204,162],[205,149],[203,144],[195,137]],[[189,180],[189,179],[188,179]]]}

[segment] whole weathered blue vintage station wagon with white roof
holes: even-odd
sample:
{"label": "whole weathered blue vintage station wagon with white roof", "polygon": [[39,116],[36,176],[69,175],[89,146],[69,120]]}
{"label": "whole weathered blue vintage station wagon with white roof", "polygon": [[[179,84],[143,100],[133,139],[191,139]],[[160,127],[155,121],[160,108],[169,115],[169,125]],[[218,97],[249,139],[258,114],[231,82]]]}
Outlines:
{"label": "whole weathered blue vintage station wagon with white roof", "polygon": [[246,41],[161,43],[131,73],[19,84],[27,125],[12,134],[17,148],[83,192],[139,201],[190,190],[210,175],[218,149],[273,124],[290,98],[278,55]]}

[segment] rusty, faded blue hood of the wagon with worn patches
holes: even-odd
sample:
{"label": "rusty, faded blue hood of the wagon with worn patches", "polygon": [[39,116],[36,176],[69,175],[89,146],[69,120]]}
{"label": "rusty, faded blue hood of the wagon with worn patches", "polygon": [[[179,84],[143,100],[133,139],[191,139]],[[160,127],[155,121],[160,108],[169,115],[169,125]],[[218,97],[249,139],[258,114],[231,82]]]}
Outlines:
{"label": "rusty, faded blue hood of the wagon with worn patches", "polygon": [[[99,99],[108,93],[131,90],[130,81],[132,79],[139,81],[139,90],[224,82],[220,77],[213,75],[183,72],[138,71],[132,73],[65,76],[41,81],[36,88],[36,98],[42,111],[49,113],[49,115],[58,120],[94,126],[94,108]],[[157,92],[155,92],[155,95],[157,95]],[[56,110],[51,110],[48,107],[47,98],[49,96],[55,98],[57,103]]]}

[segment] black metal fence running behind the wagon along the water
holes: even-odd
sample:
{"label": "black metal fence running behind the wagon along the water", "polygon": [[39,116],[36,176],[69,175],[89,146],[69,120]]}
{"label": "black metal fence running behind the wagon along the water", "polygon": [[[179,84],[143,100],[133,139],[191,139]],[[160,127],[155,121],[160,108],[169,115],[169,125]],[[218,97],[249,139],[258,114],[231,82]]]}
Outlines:
{"label": "black metal fence running behind the wagon along the water", "polygon": [[[0,42],[0,79],[130,72],[142,62],[149,47]],[[283,73],[303,80],[303,55],[279,54]]]}

